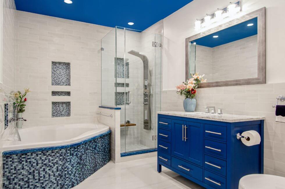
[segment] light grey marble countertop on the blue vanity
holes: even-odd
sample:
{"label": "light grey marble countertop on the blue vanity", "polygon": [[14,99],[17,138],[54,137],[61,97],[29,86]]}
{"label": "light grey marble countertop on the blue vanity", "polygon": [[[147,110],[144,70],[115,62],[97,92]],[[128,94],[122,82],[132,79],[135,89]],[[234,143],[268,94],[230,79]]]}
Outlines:
{"label": "light grey marble countertop on the blue vanity", "polygon": [[232,114],[211,114],[204,112],[180,112],[180,111],[166,111],[157,112],[163,115],[173,115],[180,117],[190,117],[202,120],[214,120],[221,122],[244,122],[244,121],[254,121],[254,120],[264,120],[265,117],[250,116],[250,115],[232,115]]}

